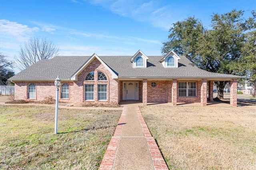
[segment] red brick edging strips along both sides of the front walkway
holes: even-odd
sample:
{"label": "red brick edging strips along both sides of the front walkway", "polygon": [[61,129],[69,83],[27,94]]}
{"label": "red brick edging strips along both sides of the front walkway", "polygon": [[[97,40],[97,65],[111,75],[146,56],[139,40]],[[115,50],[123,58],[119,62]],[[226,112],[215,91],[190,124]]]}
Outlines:
{"label": "red brick edging strips along both sides of the front walkway", "polygon": [[[121,137],[123,123],[124,123],[124,117],[126,114],[126,108],[127,106],[124,106],[122,114],[118,120],[118,124],[116,126],[116,130],[114,133],[114,136],[110,139],[110,142],[108,144],[108,148],[106,150],[106,153],[104,154],[104,157],[102,159],[102,162],[100,164],[99,170],[112,170],[114,166],[114,159],[116,156],[116,150],[118,146],[118,142]],[[140,120],[140,124],[142,126],[142,131],[144,133],[144,137],[146,138],[146,142],[148,145],[148,150],[150,152],[150,156],[154,165],[155,170],[168,170],[168,167],[164,161],[164,158],[162,157],[162,154],[156,144],[156,141],[152,137],[148,126],[145,122],[145,120],[142,117],[140,107],[136,106],[136,110],[138,113],[138,117]]]}

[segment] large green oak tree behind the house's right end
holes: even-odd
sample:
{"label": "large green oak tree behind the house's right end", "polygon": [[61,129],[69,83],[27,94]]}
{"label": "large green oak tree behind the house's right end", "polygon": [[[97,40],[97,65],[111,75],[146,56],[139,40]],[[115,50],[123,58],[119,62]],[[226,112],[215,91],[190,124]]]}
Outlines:
{"label": "large green oak tree behind the house's right end", "polygon": [[[207,71],[252,76],[255,68],[252,68],[250,63],[255,61],[255,50],[250,53],[247,50],[251,46],[255,49],[253,36],[256,14],[252,11],[252,16],[247,19],[243,18],[243,14],[242,10],[214,14],[211,29],[206,29],[202,22],[194,17],[178,21],[170,28],[170,35],[163,43],[162,53],[174,50]],[[228,81],[215,82],[218,98],[223,98],[227,83]]]}

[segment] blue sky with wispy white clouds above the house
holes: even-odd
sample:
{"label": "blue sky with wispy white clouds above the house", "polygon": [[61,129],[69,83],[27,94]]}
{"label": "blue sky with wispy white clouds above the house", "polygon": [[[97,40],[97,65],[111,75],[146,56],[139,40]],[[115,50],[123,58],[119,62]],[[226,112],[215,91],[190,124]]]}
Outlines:
{"label": "blue sky with wispy white clouds above the house", "polygon": [[30,37],[46,38],[60,55],[161,55],[172,23],[256,9],[256,0],[0,0],[0,52],[13,59]]}

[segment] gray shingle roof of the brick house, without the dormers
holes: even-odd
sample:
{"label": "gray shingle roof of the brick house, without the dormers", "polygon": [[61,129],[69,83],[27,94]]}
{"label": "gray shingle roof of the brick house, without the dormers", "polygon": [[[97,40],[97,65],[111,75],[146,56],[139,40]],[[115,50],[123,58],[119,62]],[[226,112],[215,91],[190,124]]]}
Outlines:
{"label": "gray shingle roof of the brick house, without the dormers", "polygon": [[[241,78],[230,74],[213,73],[194,66],[186,57],[180,56],[178,68],[164,68],[159,61],[162,56],[148,56],[147,68],[132,68],[132,56],[99,56],[118,77],[138,78]],[[86,63],[90,56],[59,56],[50,60],[41,60],[26,68],[9,80],[54,80],[57,75],[68,80]]]}

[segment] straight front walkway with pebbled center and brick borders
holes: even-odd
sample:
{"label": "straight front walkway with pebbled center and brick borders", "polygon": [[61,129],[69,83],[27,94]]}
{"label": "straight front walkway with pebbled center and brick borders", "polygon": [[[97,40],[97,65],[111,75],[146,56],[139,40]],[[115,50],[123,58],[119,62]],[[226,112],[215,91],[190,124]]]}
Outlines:
{"label": "straight front walkway with pebbled center and brick borders", "polygon": [[100,170],[168,170],[138,105],[125,105]]}

